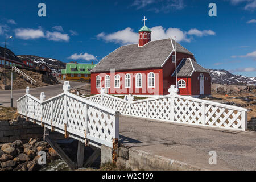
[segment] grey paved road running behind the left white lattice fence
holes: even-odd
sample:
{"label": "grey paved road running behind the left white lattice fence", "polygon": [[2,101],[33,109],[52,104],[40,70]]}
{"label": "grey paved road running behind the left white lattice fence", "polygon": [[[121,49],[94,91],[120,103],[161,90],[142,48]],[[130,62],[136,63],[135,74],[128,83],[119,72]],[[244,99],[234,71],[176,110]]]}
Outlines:
{"label": "grey paved road running behind the left white lattice fence", "polygon": [[[30,94],[32,96],[35,96],[36,98],[39,98],[40,93],[44,92],[46,94],[46,99],[56,96],[57,94],[60,94],[63,92],[62,85],[64,83],[63,80],[59,80],[61,84],[59,85],[49,85],[49,86],[43,86],[43,87],[38,87],[38,88],[31,88],[30,89]],[[71,88],[78,88],[81,86],[86,85],[86,83],[81,83],[81,82],[69,82],[71,85]],[[14,107],[17,106],[16,100],[18,98],[24,96],[26,94],[26,89],[22,90],[13,90],[13,98],[14,98]],[[11,98],[11,91],[10,90],[2,90],[0,91],[0,105],[5,106],[5,107],[10,107],[10,98]]]}

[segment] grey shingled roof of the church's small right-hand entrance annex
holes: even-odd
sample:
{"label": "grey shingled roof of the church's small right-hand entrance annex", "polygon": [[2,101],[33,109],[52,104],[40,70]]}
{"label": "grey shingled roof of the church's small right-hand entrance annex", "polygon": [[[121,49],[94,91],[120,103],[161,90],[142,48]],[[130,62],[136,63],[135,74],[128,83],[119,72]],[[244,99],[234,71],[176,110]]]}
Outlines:
{"label": "grey shingled roof of the church's small right-hand entrance annex", "polygon": [[[177,66],[177,77],[191,76],[192,72],[209,73],[207,69],[201,67],[195,60],[190,58],[183,59]],[[175,71],[172,76],[175,77]]]}

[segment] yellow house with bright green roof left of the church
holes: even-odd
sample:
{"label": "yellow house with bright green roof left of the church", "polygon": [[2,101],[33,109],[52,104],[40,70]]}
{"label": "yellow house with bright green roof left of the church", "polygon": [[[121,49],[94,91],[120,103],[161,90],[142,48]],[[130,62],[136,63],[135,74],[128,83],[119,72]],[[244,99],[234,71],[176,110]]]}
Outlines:
{"label": "yellow house with bright green roof left of the church", "polygon": [[90,80],[90,70],[96,64],[88,63],[67,63],[66,69],[61,69],[61,79],[63,80]]}

